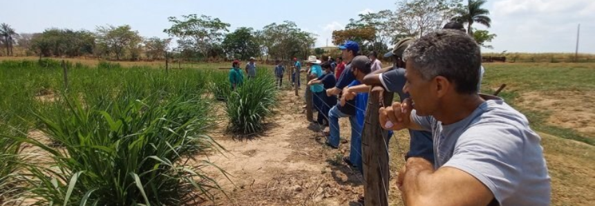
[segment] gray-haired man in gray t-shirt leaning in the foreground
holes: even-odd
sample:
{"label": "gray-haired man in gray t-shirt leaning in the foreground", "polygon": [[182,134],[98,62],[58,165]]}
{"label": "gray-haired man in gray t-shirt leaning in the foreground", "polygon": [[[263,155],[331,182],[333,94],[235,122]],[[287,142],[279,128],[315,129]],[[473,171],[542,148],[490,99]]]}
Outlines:
{"label": "gray-haired man in gray t-shirt leaning in the foreground", "polygon": [[498,97],[478,94],[480,48],[463,32],[411,44],[403,88],[410,99],[379,111],[381,127],[431,131],[434,164],[409,158],[397,178],[405,205],[549,205],[540,137]]}

